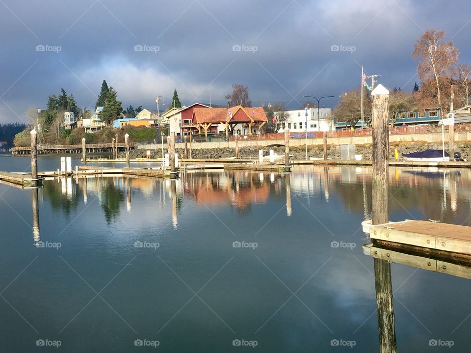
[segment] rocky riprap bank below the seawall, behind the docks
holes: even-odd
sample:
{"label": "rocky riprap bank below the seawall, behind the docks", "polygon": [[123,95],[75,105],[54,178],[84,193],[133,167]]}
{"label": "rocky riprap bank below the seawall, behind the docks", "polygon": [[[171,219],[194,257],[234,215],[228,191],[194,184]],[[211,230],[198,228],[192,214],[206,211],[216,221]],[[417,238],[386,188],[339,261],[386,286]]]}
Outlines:
{"label": "rocky riprap bank below the seawall, behind the docks", "polygon": [[[447,148],[445,143],[445,150]],[[401,154],[407,154],[411,152],[419,152],[426,149],[441,150],[442,145],[438,143],[426,143],[426,142],[401,142],[401,143],[391,143],[389,155],[390,158],[394,157],[394,148],[397,148],[399,156]],[[259,156],[259,146],[246,146],[239,148],[240,158],[242,159],[257,159]],[[269,150],[271,148],[264,148],[264,150]],[[285,147],[274,147],[275,154],[284,155]],[[183,148],[178,148],[176,152],[179,156],[182,156],[184,153]],[[458,142],[455,144],[455,152],[460,152],[463,158],[471,158],[471,141]],[[164,153],[167,153],[165,150]],[[305,158],[305,147],[297,146],[291,147],[289,149],[289,154],[293,156],[294,159],[304,159]],[[363,160],[371,159],[371,145],[356,145],[355,154],[362,155]],[[130,151],[131,159],[134,158],[146,158],[146,150],[144,149],[135,149]],[[322,158],[324,155],[322,146],[308,146],[308,158]],[[193,159],[219,159],[219,158],[231,158],[235,157],[234,148],[193,148],[192,158]],[[120,152],[118,158],[126,158],[125,152]],[[151,158],[162,158],[162,150],[151,150]],[[327,158],[329,159],[340,159],[340,145],[328,145],[327,146]]]}

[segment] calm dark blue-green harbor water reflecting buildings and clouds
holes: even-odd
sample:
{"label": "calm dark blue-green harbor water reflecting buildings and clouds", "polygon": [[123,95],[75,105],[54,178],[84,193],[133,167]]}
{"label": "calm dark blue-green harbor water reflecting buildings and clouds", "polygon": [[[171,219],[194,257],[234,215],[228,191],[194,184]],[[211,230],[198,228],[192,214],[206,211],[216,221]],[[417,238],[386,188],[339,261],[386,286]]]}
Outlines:
{"label": "calm dark blue-green harbor water reflecting buildings and clouds", "polygon": [[[298,167],[0,184],[1,351],[378,352],[370,180]],[[391,168],[390,219],[471,226],[470,184],[469,170]],[[471,281],[391,267],[398,351],[468,352]]]}

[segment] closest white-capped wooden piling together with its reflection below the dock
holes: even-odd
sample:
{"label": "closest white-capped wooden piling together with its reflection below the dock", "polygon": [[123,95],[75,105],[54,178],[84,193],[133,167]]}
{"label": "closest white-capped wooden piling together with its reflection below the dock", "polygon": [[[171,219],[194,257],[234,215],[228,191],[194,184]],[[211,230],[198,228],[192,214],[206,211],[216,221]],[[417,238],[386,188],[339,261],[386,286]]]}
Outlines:
{"label": "closest white-capped wooden piling together with its reflection below the dock", "polygon": [[[372,92],[372,205],[373,224],[388,222],[389,91],[379,84]],[[381,353],[395,353],[396,333],[392,297],[391,263],[374,259],[376,311]]]}

